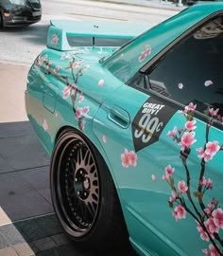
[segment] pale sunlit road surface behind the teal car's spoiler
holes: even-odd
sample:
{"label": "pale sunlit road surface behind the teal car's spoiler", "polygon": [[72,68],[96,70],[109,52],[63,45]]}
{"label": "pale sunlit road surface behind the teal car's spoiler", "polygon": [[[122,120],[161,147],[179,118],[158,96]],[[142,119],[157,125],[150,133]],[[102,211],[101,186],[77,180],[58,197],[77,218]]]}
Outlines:
{"label": "pale sunlit road surface behind the teal car's spoiler", "polygon": [[[150,0],[151,1],[151,0]],[[159,3],[156,0],[152,0]],[[117,1],[118,2],[118,1]],[[147,1],[149,2],[149,1]],[[29,27],[0,30],[0,61],[31,64],[43,50],[51,19],[100,20],[156,25],[178,9],[120,5],[91,0],[42,0],[43,19]]]}

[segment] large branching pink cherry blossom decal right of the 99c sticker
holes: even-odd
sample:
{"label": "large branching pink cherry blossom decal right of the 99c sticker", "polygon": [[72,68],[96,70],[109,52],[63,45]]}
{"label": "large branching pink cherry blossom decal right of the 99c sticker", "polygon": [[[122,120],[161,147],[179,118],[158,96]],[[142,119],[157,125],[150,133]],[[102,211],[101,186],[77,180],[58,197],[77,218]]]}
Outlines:
{"label": "large branching pink cherry blossom decal right of the 99c sticker", "polygon": [[168,200],[169,207],[173,209],[172,214],[176,221],[191,216],[195,219],[195,226],[199,232],[200,239],[209,242],[208,248],[204,248],[202,252],[207,256],[223,255],[223,239],[220,236],[220,229],[223,229],[223,210],[217,199],[213,198],[207,205],[204,203],[206,192],[214,189],[211,178],[208,177],[206,171],[207,162],[212,160],[215,155],[223,151],[223,145],[217,140],[210,140],[210,129],[212,127],[213,118],[217,116],[218,109],[209,109],[209,121],[206,124],[206,143],[197,147],[197,157],[200,159],[200,171],[197,180],[197,190],[192,191],[191,172],[187,165],[187,159],[192,151],[191,146],[197,143],[196,139],[196,120],[194,119],[194,111],[197,105],[192,102],[180,111],[184,115],[186,121],[183,128],[175,126],[166,136],[172,139],[180,146],[180,159],[185,170],[185,179],[175,181],[175,168],[170,164],[165,167],[163,181],[168,184],[171,194]]}

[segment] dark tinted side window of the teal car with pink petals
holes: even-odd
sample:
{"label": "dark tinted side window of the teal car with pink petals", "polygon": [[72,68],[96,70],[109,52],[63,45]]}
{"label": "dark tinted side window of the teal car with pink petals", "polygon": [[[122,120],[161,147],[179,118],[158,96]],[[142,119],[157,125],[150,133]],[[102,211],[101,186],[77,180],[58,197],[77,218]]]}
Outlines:
{"label": "dark tinted side window of the teal car with pink petals", "polygon": [[181,103],[197,103],[207,114],[219,108],[223,116],[223,17],[199,28],[174,46],[152,71],[149,87]]}

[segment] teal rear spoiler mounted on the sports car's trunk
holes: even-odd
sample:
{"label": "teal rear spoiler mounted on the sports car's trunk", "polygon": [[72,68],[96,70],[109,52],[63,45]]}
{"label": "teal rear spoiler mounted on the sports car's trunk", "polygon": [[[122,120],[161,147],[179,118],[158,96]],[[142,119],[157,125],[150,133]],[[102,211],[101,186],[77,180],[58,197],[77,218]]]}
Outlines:
{"label": "teal rear spoiler mounted on the sports car's trunk", "polygon": [[124,22],[89,21],[50,21],[46,46],[57,50],[73,50],[68,37],[133,39],[145,32],[151,25],[129,24]]}

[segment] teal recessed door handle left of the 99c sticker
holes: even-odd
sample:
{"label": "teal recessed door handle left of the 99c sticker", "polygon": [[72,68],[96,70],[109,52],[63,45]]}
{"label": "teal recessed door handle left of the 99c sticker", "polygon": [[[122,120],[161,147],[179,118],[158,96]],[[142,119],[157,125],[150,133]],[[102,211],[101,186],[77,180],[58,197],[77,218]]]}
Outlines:
{"label": "teal recessed door handle left of the 99c sticker", "polygon": [[130,123],[129,113],[125,109],[119,106],[114,105],[111,107],[108,118],[112,122],[116,123],[117,125],[119,125],[124,129],[129,127],[129,123]]}

